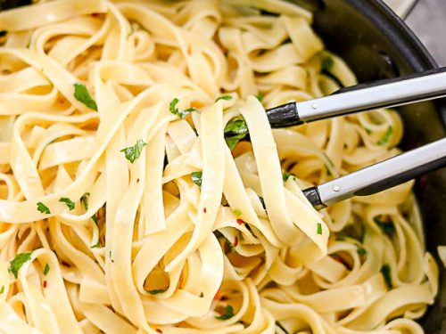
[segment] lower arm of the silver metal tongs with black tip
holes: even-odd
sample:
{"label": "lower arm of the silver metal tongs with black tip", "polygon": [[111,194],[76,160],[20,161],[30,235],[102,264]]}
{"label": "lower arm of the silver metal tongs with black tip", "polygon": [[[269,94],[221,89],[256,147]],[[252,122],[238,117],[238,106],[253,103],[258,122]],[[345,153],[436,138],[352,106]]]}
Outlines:
{"label": "lower arm of the silver metal tongs with black tip", "polygon": [[353,196],[368,196],[384,191],[441,167],[446,167],[446,138],[303,192],[313,206],[324,208]]}

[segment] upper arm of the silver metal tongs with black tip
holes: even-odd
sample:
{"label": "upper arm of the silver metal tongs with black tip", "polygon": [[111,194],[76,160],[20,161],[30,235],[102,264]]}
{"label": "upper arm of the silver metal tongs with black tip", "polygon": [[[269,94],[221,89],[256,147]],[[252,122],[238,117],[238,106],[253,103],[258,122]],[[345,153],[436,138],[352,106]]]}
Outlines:
{"label": "upper arm of the silver metal tongs with black tip", "polygon": [[318,99],[277,106],[267,115],[272,127],[285,127],[442,96],[446,96],[446,68],[342,88]]}

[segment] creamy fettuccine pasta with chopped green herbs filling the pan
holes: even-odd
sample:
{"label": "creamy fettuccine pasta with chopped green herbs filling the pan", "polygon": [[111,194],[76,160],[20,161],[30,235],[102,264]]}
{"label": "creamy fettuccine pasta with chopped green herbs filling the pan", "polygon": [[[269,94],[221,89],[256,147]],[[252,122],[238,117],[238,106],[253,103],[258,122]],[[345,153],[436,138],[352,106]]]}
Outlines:
{"label": "creamy fettuccine pasta with chopped green herbs filling the pan", "polygon": [[412,183],[301,192],[398,154],[398,114],[268,125],[356,83],[310,23],[280,0],[0,12],[0,333],[423,332]]}

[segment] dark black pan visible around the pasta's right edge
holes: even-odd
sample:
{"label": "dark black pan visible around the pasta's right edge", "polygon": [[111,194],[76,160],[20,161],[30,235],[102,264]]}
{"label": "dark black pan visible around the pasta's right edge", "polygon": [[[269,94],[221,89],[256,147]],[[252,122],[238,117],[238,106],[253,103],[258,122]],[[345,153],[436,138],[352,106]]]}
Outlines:
{"label": "dark black pan visible around the pasta's right edge", "polygon": [[[327,49],[339,54],[359,82],[433,69],[436,63],[417,37],[381,0],[294,0],[315,12],[314,28]],[[400,109],[405,123],[401,146],[408,150],[445,136],[446,102]],[[421,320],[426,333],[446,333],[446,275],[437,246],[446,244],[446,170],[417,180],[427,249],[440,267],[440,292]]]}

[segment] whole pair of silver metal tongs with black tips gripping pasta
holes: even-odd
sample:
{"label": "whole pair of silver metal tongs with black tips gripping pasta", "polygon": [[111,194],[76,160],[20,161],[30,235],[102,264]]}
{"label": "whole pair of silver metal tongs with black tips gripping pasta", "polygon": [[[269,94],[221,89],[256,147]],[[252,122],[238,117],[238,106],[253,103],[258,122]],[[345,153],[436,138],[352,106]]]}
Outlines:
{"label": "whole pair of silver metal tongs with black tips gripping pasta", "polygon": [[[443,96],[446,96],[446,67],[342,88],[310,101],[286,103],[267,110],[267,115],[272,127],[286,127]],[[310,187],[303,193],[315,208],[326,208],[353,196],[384,191],[442,167],[446,167],[446,138]]]}

